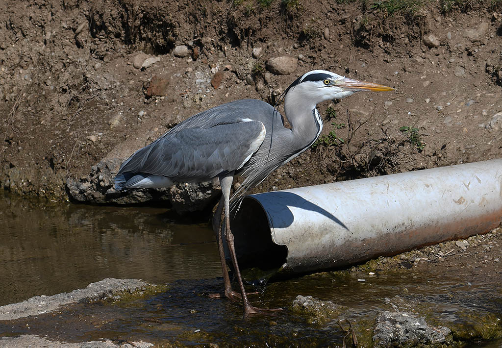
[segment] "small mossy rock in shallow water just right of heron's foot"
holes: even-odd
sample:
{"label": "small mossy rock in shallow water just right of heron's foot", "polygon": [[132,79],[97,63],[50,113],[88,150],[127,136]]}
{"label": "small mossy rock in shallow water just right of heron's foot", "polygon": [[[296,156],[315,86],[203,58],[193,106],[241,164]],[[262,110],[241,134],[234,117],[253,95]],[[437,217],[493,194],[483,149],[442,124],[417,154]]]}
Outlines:
{"label": "small mossy rock in shallow water just right of heron's foot", "polygon": [[309,324],[324,325],[336,319],[346,308],[331,301],[298,295],[291,306],[294,313],[305,317]]}

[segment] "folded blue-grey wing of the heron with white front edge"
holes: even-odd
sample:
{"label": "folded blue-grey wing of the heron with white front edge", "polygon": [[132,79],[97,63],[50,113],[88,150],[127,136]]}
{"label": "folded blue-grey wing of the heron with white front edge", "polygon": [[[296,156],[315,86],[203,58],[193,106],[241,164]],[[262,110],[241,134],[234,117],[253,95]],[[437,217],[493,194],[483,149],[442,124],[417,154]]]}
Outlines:
{"label": "folded blue-grey wing of the heron with white front edge", "polygon": [[210,179],[241,168],[265,139],[261,122],[242,119],[172,131],[138,150],[117,174],[147,173],[179,181]]}

